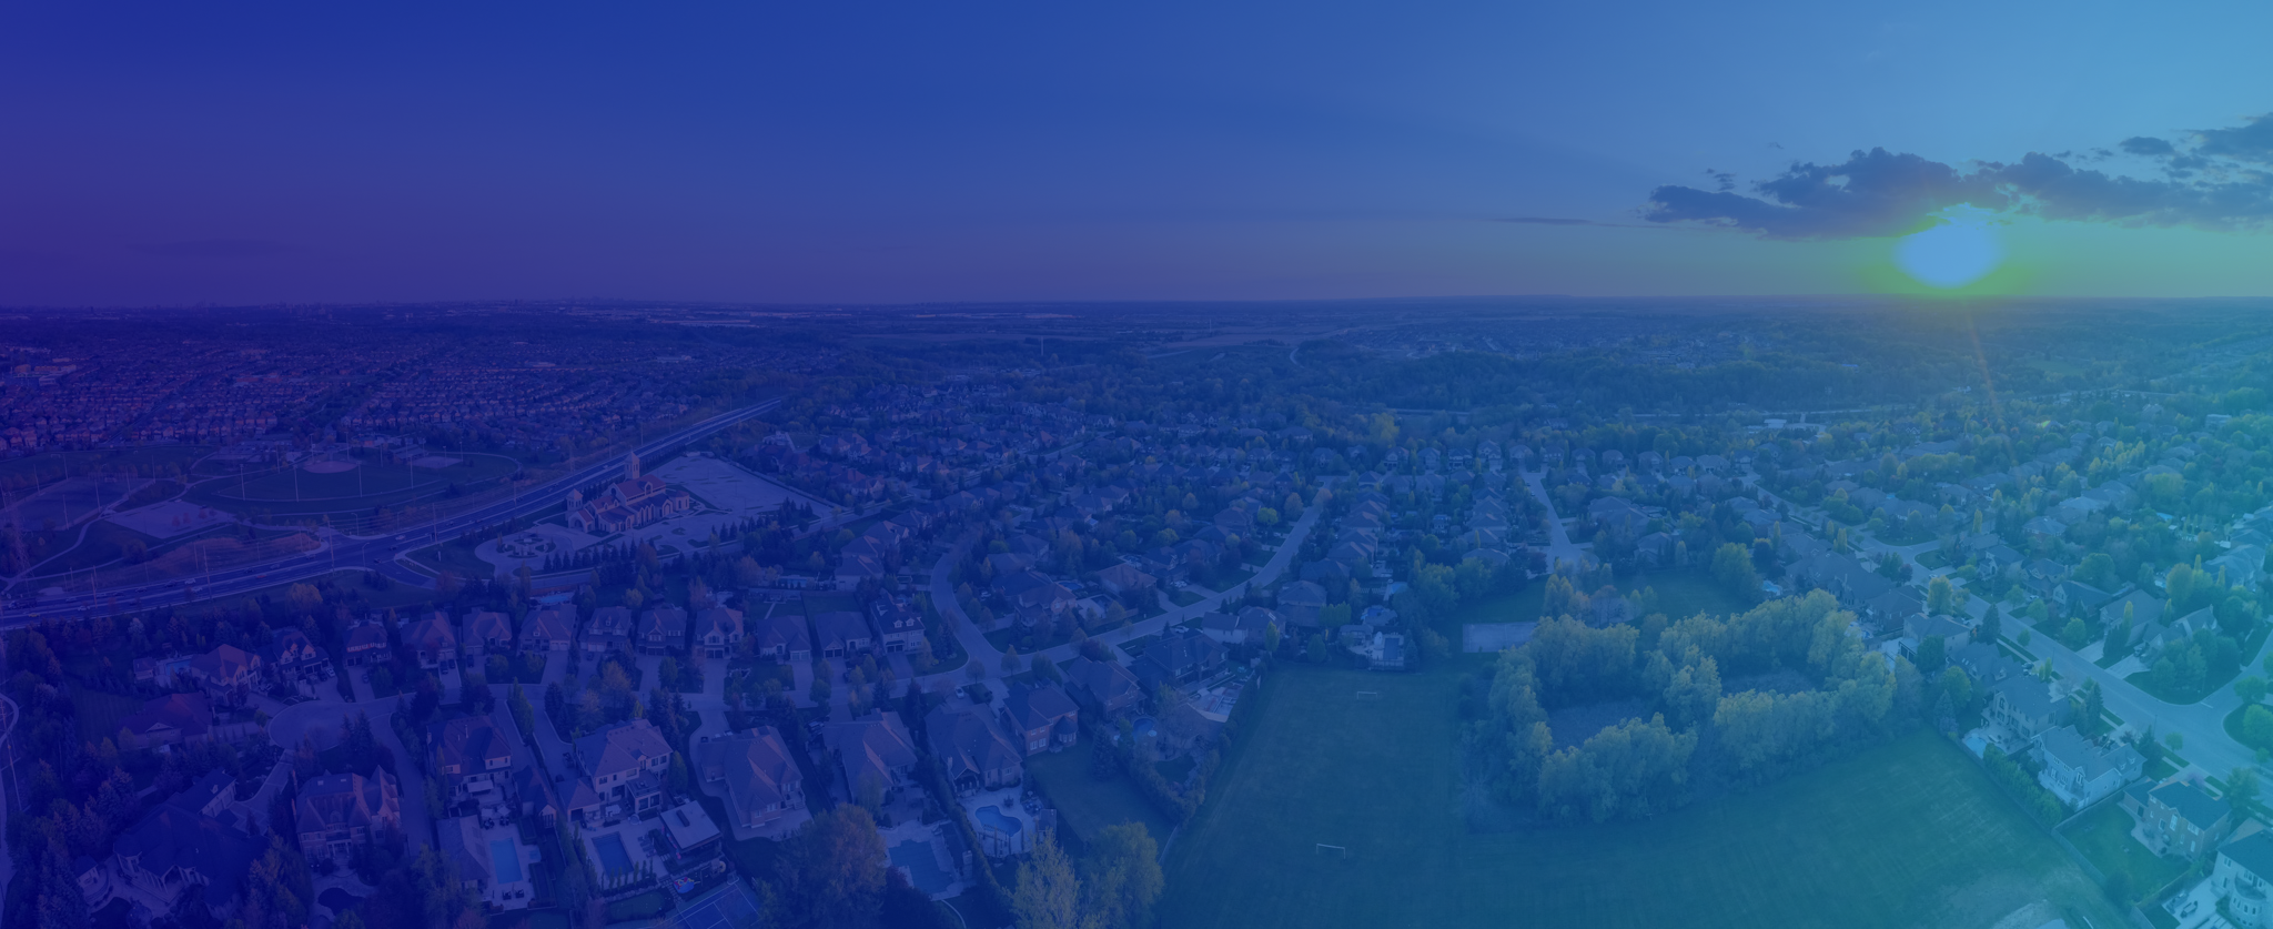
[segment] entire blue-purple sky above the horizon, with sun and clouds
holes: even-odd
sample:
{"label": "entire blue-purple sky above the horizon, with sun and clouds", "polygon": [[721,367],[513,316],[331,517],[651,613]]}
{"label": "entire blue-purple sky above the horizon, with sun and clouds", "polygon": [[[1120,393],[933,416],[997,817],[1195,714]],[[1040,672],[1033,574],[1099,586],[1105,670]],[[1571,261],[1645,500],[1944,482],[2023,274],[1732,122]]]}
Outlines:
{"label": "entire blue-purple sky above the horizon, with sun and clouds", "polygon": [[2266,34],[2230,2],[5,2],[0,304],[2273,295]]}

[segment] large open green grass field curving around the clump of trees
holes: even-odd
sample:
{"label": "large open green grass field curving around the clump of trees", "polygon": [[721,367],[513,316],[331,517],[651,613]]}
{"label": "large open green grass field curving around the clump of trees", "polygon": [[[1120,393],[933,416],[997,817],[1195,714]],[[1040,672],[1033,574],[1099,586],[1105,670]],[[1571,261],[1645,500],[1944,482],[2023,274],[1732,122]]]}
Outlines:
{"label": "large open green grass field curving around the clump of trees", "polygon": [[[1171,850],[1162,924],[1989,927],[2037,902],[2123,924],[1928,731],[1646,822],[1471,834],[1457,666],[1282,668]],[[1359,688],[1382,697],[1359,704]]]}

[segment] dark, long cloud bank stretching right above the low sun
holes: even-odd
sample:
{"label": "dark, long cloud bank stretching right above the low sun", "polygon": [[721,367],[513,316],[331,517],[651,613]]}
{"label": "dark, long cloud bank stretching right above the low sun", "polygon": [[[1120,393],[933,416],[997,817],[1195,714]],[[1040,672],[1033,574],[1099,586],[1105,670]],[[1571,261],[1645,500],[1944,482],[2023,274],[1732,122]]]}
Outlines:
{"label": "dark, long cloud bank stretching right above the low sun", "polygon": [[[1991,214],[2071,223],[2273,229],[2273,118],[2232,129],[2203,129],[2182,150],[2134,136],[2121,148],[2164,161],[2164,177],[2141,179],[2078,168],[2071,152],[2030,152],[2016,164],[1984,161],[1971,170],[1918,154],[1873,148],[1841,164],[1800,161],[1737,193],[1730,184],[1700,191],[1666,184],[1650,191],[1641,218],[1757,232],[1764,238],[1903,236],[1941,223],[1939,211],[1968,204]],[[1718,179],[1718,177],[1716,177]]]}

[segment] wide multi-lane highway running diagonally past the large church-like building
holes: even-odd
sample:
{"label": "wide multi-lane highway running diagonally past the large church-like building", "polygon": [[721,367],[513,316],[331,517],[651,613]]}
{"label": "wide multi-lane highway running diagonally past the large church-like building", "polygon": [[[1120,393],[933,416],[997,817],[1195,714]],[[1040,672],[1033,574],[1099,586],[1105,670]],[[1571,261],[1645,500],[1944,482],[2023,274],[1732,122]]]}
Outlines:
{"label": "wide multi-lane highway running diagonally past the large church-like building", "polygon": [[[641,445],[636,452],[641,457],[659,454],[673,445],[686,445],[709,438],[736,422],[750,420],[773,407],[780,400],[766,400],[755,407],[743,407],[732,413],[718,413],[686,429],[673,432],[664,438]],[[248,591],[259,591],[277,584],[302,581],[309,577],[330,575],[334,570],[375,570],[402,584],[427,586],[430,579],[416,570],[409,570],[396,561],[396,554],[407,547],[434,545],[441,541],[455,541],[466,532],[491,527],[518,516],[530,516],[543,511],[568,491],[607,479],[609,475],[623,472],[625,457],[614,454],[600,463],[586,466],[568,477],[555,479],[546,486],[523,491],[516,500],[496,502],[468,513],[457,513],[436,522],[421,527],[407,527],[386,536],[348,536],[330,529],[318,529],[325,545],[295,554],[280,561],[234,566],[216,570],[211,575],[198,575],[182,581],[164,581],[148,586],[130,586],[116,591],[95,593],[70,593],[64,597],[39,600],[36,604],[23,609],[7,609],[0,613],[0,627],[16,627],[36,622],[43,618],[89,618],[89,616],[116,616],[116,613],[139,613],[155,606],[182,604],[191,600],[216,600],[230,597]]]}

